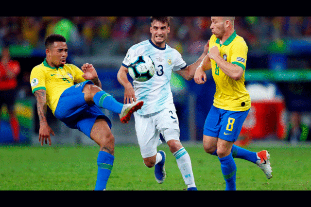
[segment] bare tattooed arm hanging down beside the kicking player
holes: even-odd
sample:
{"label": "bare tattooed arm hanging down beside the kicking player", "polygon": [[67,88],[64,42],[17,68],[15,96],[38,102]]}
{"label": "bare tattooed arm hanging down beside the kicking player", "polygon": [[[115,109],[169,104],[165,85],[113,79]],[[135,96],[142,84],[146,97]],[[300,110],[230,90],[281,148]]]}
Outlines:
{"label": "bare tattooed arm hanging down beside the kicking player", "polygon": [[47,121],[47,96],[46,96],[46,91],[44,89],[40,89],[35,91],[34,93],[35,98],[37,100],[37,112],[39,116],[39,121],[40,121],[40,129],[39,129],[39,142],[41,142],[41,145],[43,146],[43,141],[45,141],[46,144],[48,144],[49,140],[49,145],[51,146],[52,141],[51,141],[51,135],[54,135],[53,130],[48,124]]}

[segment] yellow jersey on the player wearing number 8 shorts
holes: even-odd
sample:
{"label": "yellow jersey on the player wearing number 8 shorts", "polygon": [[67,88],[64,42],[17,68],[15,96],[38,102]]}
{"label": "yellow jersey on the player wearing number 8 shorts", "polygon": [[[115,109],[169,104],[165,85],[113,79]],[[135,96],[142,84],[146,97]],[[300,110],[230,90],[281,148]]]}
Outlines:
{"label": "yellow jersey on the player wearing number 8 shorts", "polygon": [[234,33],[223,43],[215,35],[210,37],[209,48],[217,46],[221,57],[227,62],[244,69],[242,78],[238,81],[227,76],[211,59],[212,75],[216,84],[214,106],[230,111],[246,111],[251,107],[251,99],[245,88],[245,68],[248,48],[244,39]]}

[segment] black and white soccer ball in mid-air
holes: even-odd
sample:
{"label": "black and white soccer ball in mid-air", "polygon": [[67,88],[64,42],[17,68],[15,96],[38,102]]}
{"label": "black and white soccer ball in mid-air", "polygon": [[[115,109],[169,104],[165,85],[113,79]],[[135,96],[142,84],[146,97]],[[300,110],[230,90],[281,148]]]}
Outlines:
{"label": "black and white soccer ball in mid-air", "polygon": [[148,56],[136,56],[128,65],[128,73],[135,81],[148,81],[155,74],[155,63]]}

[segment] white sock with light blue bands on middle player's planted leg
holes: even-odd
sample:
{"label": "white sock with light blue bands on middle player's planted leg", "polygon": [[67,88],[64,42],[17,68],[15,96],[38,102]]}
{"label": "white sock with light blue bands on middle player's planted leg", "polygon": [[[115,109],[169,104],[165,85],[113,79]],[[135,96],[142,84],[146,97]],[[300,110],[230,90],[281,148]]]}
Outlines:
{"label": "white sock with light blue bands on middle player's planted leg", "polygon": [[183,176],[185,184],[189,187],[195,187],[194,177],[192,172],[190,156],[185,150],[185,148],[179,149],[177,152],[173,153],[176,158],[177,166],[180,173]]}

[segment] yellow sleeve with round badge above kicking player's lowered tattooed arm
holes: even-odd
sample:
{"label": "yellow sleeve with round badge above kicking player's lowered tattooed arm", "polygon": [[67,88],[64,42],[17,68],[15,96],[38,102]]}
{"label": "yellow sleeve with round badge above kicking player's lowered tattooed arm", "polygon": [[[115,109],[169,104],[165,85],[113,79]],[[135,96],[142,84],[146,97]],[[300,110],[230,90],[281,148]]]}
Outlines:
{"label": "yellow sleeve with round badge above kicking player's lowered tattooed arm", "polygon": [[44,89],[45,87],[45,72],[40,67],[35,67],[30,73],[30,85],[32,92],[35,93],[36,90]]}

